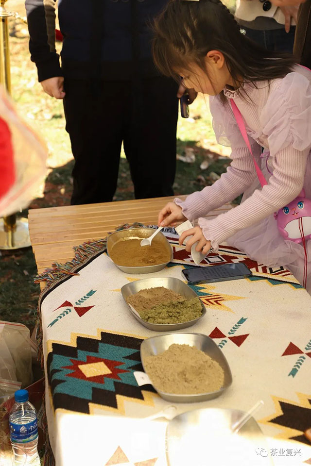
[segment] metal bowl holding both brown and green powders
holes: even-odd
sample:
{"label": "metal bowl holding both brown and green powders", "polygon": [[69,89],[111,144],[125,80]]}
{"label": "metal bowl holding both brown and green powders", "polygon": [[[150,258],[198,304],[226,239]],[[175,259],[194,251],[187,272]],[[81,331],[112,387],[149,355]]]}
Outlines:
{"label": "metal bowl holding both brown and green powders", "polygon": [[175,291],[175,293],[180,294],[187,300],[199,298],[195,291],[193,291],[190,288],[190,286],[186,285],[186,283],[182,282],[178,278],[154,277],[144,278],[143,280],[138,280],[137,282],[126,283],[126,285],[123,285],[121,288],[123,299],[129,306],[133,316],[138,320],[139,323],[141,323],[141,325],[143,325],[147,329],[153,330],[154,332],[174,332],[175,330],[181,330],[186,329],[187,327],[191,327],[206,315],[205,305],[200,300],[202,304],[202,314],[197,319],[188,320],[187,322],[180,322],[178,324],[153,324],[151,322],[146,322],[136,312],[133,311],[132,307],[127,302],[127,298],[129,296],[135,295],[140,290],[155,288],[157,286],[164,286],[164,288],[173,290]]}

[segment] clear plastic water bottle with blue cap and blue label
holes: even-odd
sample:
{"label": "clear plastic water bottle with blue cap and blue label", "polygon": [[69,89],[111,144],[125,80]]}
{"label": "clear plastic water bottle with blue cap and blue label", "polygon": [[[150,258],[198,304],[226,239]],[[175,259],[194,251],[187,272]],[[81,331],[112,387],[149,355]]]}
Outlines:
{"label": "clear plastic water bottle with blue cap and blue label", "polygon": [[40,466],[37,414],[28,399],[27,390],[17,390],[15,403],[9,414],[14,466]]}

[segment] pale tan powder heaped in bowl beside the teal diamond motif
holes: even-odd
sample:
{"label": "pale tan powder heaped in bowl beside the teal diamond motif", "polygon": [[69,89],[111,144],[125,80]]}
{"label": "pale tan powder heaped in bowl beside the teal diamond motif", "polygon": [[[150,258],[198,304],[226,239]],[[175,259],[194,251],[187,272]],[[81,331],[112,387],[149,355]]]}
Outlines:
{"label": "pale tan powder heaped in bowl beside the teal diamond motif", "polygon": [[163,353],[148,356],[144,369],[157,390],[179,395],[214,392],[225,380],[216,361],[189,345],[173,344]]}

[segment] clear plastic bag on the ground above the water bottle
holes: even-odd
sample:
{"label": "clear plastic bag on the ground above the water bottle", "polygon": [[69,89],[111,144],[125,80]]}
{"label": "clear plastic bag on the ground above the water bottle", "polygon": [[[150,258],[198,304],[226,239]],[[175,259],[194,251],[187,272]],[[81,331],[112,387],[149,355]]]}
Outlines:
{"label": "clear plastic bag on the ground above the water bottle", "polygon": [[22,387],[33,382],[30,332],[23,324],[0,320],[0,379]]}

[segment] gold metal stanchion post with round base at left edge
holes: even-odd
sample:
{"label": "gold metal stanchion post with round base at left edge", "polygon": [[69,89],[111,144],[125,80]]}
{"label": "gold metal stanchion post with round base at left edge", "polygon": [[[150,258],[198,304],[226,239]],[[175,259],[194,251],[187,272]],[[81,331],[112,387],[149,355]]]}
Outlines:
{"label": "gold metal stanchion post with round base at left edge", "polygon": [[[8,18],[14,16],[6,11],[6,0],[0,0],[0,83],[11,94],[11,68],[9,52]],[[10,215],[0,219],[0,250],[13,250],[31,246],[27,218],[16,219]]]}

